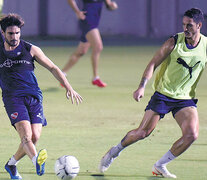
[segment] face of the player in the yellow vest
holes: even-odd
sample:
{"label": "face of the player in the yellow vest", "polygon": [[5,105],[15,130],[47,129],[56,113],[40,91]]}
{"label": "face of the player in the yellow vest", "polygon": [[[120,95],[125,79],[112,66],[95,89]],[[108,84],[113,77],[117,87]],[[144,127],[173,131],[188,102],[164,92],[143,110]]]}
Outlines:
{"label": "face of the player in the yellow vest", "polygon": [[193,39],[200,32],[201,23],[196,23],[192,18],[183,17],[183,31],[187,39]]}

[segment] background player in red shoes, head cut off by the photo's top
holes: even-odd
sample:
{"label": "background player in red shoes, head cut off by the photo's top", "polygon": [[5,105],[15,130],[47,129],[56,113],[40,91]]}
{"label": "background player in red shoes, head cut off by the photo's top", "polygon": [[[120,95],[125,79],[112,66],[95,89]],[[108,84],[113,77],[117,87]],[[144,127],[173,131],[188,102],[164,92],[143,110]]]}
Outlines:
{"label": "background player in red shoes, head cut off by the photo's top", "polygon": [[[87,53],[88,49],[92,48],[92,67],[93,67],[93,79],[92,84],[98,87],[105,87],[106,83],[102,82],[98,76],[98,61],[103,49],[103,43],[98,25],[100,21],[102,6],[104,0],[83,0],[83,9],[80,10],[75,0],[68,0],[71,8],[75,12],[77,18],[80,20],[81,37],[80,43],[71,55],[69,61],[63,67],[62,71],[66,75],[66,72],[78,62],[80,57]],[[111,0],[105,0],[106,7],[109,10],[117,9],[117,4]]]}

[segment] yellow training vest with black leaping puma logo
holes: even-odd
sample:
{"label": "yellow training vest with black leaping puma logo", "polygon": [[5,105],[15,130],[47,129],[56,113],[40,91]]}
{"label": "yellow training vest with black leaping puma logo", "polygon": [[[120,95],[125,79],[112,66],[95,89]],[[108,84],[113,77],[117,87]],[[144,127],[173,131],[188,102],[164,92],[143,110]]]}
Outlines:
{"label": "yellow training vest with black leaping puma logo", "polygon": [[171,54],[162,62],[154,81],[155,91],[174,99],[192,99],[202,71],[207,62],[207,37],[201,34],[198,45],[188,49],[184,33],[178,39]]}

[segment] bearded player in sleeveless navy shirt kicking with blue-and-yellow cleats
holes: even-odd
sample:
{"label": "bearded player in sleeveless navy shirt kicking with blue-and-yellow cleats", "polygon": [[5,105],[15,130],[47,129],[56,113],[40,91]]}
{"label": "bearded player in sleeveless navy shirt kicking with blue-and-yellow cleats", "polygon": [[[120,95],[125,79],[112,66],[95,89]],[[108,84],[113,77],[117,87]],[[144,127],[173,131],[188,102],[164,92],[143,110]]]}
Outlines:
{"label": "bearded player in sleeveless navy shirt kicking with blue-and-yellow cleats", "polygon": [[17,14],[5,15],[0,20],[4,44],[0,46],[0,81],[6,112],[15,127],[20,145],[9,159],[5,169],[11,179],[22,179],[16,165],[28,155],[36,167],[37,175],[44,174],[46,149],[37,153],[35,144],[40,138],[42,127],[47,125],[43,114],[42,92],[34,74],[34,61],[48,69],[66,89],[72,103],[82,102],[82,97],[73,90],[62,71],[42,50],[20,39],[24,21]]}

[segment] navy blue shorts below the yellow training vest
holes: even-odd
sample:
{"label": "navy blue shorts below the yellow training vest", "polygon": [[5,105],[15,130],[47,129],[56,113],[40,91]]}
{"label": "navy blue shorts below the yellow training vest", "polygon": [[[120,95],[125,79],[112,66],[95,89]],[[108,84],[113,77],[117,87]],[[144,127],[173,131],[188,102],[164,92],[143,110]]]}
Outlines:
{"label": "navy blue shorts below the yellow training vest", "polygon": [[182,108],[190,106],[197,107],[197,102],[197,99],[173,99],[159,92],[155,92],[145,111],[151,109],[152,111],[157,112],[160,115],[160,118],[163,118],[165,114],[171,111],[173,117],[175,117],[175,114]]}

